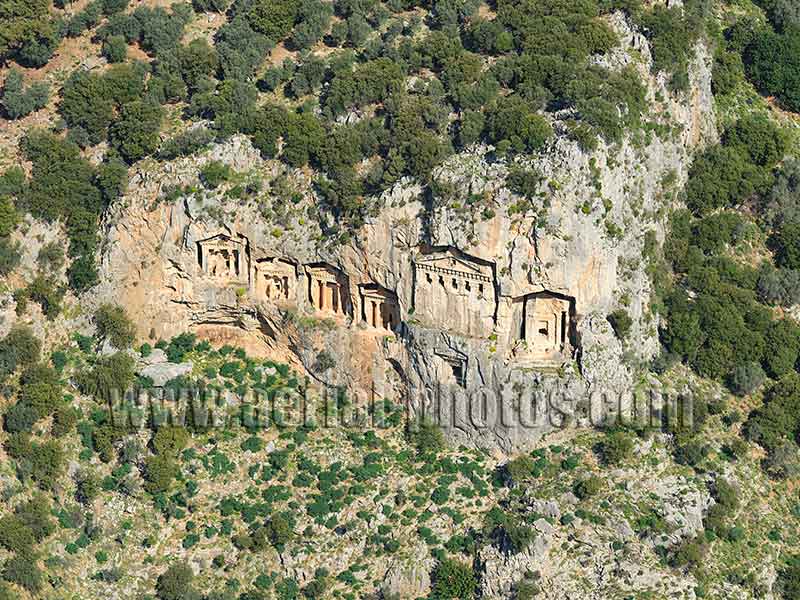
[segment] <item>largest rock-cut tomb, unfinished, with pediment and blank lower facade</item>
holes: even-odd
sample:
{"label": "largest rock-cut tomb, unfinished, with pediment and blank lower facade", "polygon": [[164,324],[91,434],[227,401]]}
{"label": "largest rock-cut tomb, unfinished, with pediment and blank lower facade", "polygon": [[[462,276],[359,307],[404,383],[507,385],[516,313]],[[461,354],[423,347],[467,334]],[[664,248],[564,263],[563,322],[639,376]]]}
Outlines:
{"label": "largest rock-cut tomb, unfinished, with pediment and blank lower facade", "polygon": [[455,248],[414,259],[414,318],[423,325],[484,337],[494,327],[496,298],[491,263]]}

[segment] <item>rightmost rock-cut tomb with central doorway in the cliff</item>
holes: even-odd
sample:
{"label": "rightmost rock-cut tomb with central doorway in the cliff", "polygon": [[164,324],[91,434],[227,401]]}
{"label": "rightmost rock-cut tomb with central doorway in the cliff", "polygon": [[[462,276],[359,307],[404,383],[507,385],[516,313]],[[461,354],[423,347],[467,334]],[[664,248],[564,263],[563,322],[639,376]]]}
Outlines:
{"label": "rightmost rock-cut tomb with central doorway in the cliff", "polygon": [[543,290],[514,300],[515,354],[534,361],[557,362],[572,350],[575,298]]}

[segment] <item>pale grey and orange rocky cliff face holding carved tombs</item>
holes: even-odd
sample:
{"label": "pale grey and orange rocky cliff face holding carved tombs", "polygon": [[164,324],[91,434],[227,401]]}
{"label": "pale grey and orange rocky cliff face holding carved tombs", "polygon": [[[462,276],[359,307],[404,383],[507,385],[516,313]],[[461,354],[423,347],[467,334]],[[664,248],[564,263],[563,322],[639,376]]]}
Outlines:
{"label": "pale grey and orange rocky cliff face holding carved tombs", "polygon": [[[634,64],[647,83],[645,133],[584,151],[556,121],[560,135],[524,164],[473,148],[435,172],[435,193],[398,182],[346,241],[326,235],[324,216],[309,217],[319,213],[309,174],[281,173],[243,138],[142,163],[107,220],[98,301],[122,301],[142,335],[192,329],[289,360],[320,383],[444,411],[458,441],[530,444],[553,427],[533,420],[548,393],[625,392],[623,353],[635,362],[657,350],[645,235],[663,235],[690,153],[715,136],[706,49],[690,91],[676,96],[650,76],[644,38],[621,16],[613,25],[623,45],[607,61]],[[235,193],[198,186],[210,160],[239,174]],[[513,168],[541,174],[533,204],[509,190]],[[248,199],[255,180],[269,187]],[[289,208],[278,191],[287,182]],[[170,185],[195,187],[165,199]],[[605,318],[618,307],[634,321],[627,348]],[[441,385],[448,400],[437,406]],[[465,400],[479,397],[489,400]]]}

